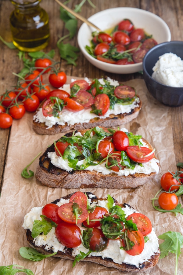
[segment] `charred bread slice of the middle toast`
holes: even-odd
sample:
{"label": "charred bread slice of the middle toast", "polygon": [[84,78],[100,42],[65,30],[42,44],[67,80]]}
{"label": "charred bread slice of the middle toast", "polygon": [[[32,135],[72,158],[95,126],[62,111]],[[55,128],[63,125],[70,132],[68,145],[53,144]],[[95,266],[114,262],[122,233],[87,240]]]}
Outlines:
{"label": "charred bread slice of the middle toast", "polygon": [[[86,129],[87,130],[87,129]],[[80,130],[81,134],[86,130]],[[77,132],[77,131],[76,131]],[[73,132],[67,133],[66,136],[72,136]],[[148,141],[142,140],[153,149]],[[48,187],[54,188],[110,188],[110,189],[127,189],[136,188],[145,184],[150,178],[156,175],[152,172],[148,175],[143,173],[129,174],[128,176],[118,176],[116,173],[104,175],[96,171],[78,171],[73,170],[67,172],[61,168],[55,167],[48,158],[48,152],[54,152],[54,144],[52,144],[44,154],[39,158],[36,169],[36,178]]]}

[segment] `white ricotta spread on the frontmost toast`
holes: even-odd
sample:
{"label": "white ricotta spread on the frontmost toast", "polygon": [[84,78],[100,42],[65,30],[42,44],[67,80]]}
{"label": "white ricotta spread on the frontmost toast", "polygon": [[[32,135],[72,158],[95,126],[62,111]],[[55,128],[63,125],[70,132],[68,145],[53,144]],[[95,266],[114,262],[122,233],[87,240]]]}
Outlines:
{"label": "white ricotta spread on the frontmost toast", "polygon": [[[57,205],[61,206],[62,204],[68,203],[69,200],[61,199]],[[108,211],[107,206],[108,201],[107,200],[99,200],[98,202],[93,202],[91,206],[98,205],[101,207],[105,207]],[[41,220],[40,215],[42,215],[42,208],[43,207],[33,207],[29,213],[27,213],[24,217],[23,222],[23,228],[24,229],[30,229],[32,231],[34,220]],[[130,214],[137,212],[133,208],[126,205],[125,208],[122,208],[127,216]],[[138,212],[137,212],[138,213]],[[77,224],[77,226],[80,227],[80,229],[85,229],[81,226],[81,224]],[[158,244],[158,238],[154,232],[154,229],[152,228],[152,232],[148,235],[149,240],[144,245],[144,250],[141,254],[131,256],[126,253],[123,249],[120,249],[121,244],[120,240],[109,240],[109,244],[106,249],[104,249],[101,252],[91,252],[89,256],[101,256],[102,259],[104,258],[110,258],[113,259],[113,262],[116,262],[118,264],[126,263],[130,265],[135,265],[139,267],[140,264],[142,264],[144,261],[147,261],[150,259],[152,255],[154,255],[156,252],[158,252],[159,244]],[[64,246],[59,243],[59,241],[56,238],[55,235],[55,228],[52,227],[52,229],[49,231],[49,233],[45,236],[44,233],[41,235],[38,235],[36,238],[34,238],[34,243],[37,246],[45,245],[45,250],[52,249],[53,252],[57,251],[63,251]],[[80,253],[80,251],[87,253],[89,249],[85,248],[82,244],[76,248],[73,248],[72,255],[75,257],[77,254]]]}

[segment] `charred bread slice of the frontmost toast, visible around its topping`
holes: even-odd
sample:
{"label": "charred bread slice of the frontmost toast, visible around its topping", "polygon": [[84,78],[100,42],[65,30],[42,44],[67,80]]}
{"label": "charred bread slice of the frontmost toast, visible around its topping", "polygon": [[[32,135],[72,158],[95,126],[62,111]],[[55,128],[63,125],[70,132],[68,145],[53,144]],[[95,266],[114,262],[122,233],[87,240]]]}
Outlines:
{"label": "charred bread slice of the frontmost toast, visible around its topping", "polygon": [[[63,199],[70,199],[70,197],[73,195],[69,194],[67,196],[62,197]],[[87,196],[89,196],[89,194],[94,195],[91,192],[86,192]],[[113,198],[114,199],[114,198]],[[60,199],[55,200],[54,202],[52,202],[53,204],[57,204],[57,202],[59,202]],[[99,198],[97,196],[92,197],[91,201],[96,201],[96,200],[107,200],[107,198]],[[119,205],[121,207],[125,207],[126,204],[119,204],[117,200],[114,199],[114,202],[116,205]],[[128,205],[128,204],[127,204]],[[129,206],[129,205],[128,205]],[[133,207],[129,206],[130,208],[134,209]],[[135,210],[134,210],[135,211]],[[27,238],[27,242],[29,244],[30,247],[36,249],[38,252],[48,255],[53,253],[52,249],[49,250],[45,250],[45,246],[36,246],[34,243],[34,239],[31,236],[31,231],[29,229],[26,229],[26,238]],[[68,260],[73,260],[74,261],[74,257],[72,256],[72,248],[64,248],[64,251],[58,251],[56,255],[54,255],[53,257],[56,258],[62,258],[62,259],[68,259]],[[116,268],[118,270],[121,270],[123,272],[142,272],[142,271],[147,271],[149,269],[151,269],[153,266],[155,266],[159,260],[160,257],[160,249],[158,249],[158,252],[156,252],[154,255],[151,256],[150,259],[148,259],[148,261],[143,262],[141,265],[139,265],[139,268],[136,267],[135,265],[129,265],[126,263],[122,263],[122,264],[118,264],[113,262],[112,259],[110,258],[105,258],[102,259],[101,256],[87,256],[85,259],[81,260],[81,261],[86,261],[86,262],[94,262],[106,267],[113,267]]]}

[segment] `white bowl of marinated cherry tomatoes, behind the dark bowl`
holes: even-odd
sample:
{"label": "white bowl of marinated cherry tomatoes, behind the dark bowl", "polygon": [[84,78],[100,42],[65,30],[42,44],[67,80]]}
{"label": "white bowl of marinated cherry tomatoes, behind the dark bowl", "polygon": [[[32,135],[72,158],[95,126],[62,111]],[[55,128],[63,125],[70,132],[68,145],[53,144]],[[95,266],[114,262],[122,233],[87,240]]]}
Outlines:
{"label": "white bowl of marinated cherry tomatoes, behind the dark bowl", "polygon": [[170,41],[170,29],[154,13],[119,7],[95,13],[88,20],[101,31],[81,25],[77,41],[84,57],[95,67],[118,74],[142,71],[145,54]]}

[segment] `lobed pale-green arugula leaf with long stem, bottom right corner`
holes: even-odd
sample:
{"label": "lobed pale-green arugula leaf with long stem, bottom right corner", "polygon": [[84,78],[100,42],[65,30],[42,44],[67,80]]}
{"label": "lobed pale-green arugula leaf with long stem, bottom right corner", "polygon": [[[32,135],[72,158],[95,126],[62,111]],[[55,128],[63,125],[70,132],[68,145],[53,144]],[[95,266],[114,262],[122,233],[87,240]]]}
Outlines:
{"label": "lobed pale-green arugula leaf with long stem, bottom right corner", "polygon": [[175,253],[175,275],[178,271],[178,258],[181,254],[181,248],[183,247],[183,236],[180,232],[172,232],[168,231],[158,236],[159,239],[164,240],[162,244],[160,244],[160,259],[163,259],[168,255],[169,252]]}

